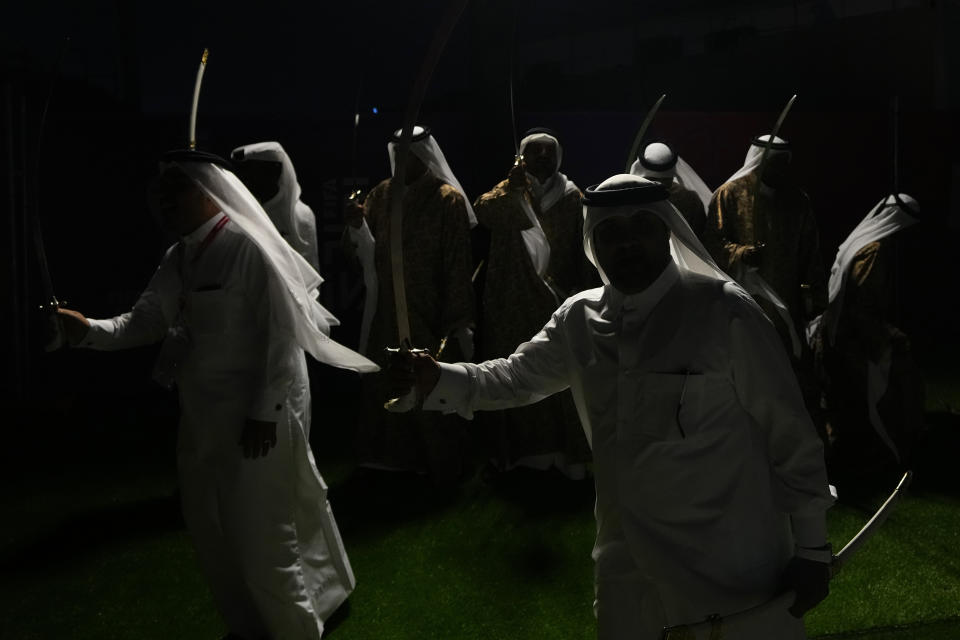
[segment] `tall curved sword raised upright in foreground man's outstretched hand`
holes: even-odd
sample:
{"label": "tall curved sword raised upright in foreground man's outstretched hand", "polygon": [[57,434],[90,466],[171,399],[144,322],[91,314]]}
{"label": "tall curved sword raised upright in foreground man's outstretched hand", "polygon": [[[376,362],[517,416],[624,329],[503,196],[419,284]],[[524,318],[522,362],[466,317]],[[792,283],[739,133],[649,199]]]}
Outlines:
{"label": "tall curved sword raised upright in foreground man's outstretched hand", "polygon": [[[411,351],[413,345],[410,342],[410,317],[407,312],[407,289],[404,282],[403,273],[403,197],[407,191],[407,157],[410,153],[410,139],[413,137],[413,127],[416,124],[417,116],[420,114],[420,105],[423,103],[423,97],[427,92],[427,85],[430,82],[430,76],[440,60],[440,54],[453,33],[454,27],[460,19],[469,0],[456,0],[447,7],[427,50],[426,58],[420,67],[420,75],[417,77],[410,94],[410,101],[407,103],[407,110],[403,116],[403,128],[400,132],[400,142],[397,145],[397,157],[393,178],[390,180],[389,191],[389,219],[390,219],[390,264],[393,270],[393,300],[394,308],[397,314],[397,333],[399,338],[398,351],[406,353]],[[417,402],[415,394],[411,392],[405,398],[394,398],[386,403],[387,408],[393,410],[403,410],[407,405]],[[402,406],[401,406],[402,405]]]}

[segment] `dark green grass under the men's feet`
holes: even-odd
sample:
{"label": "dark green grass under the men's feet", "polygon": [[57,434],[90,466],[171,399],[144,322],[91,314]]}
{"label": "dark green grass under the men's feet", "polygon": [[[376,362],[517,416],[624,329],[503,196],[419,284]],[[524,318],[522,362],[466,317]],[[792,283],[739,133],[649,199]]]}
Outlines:
{"label": "dark green grass under the men's feet", "polygon": [[[960,418],[938,404],[960,398],[955,386],[935,388],[942,395],[928,395],[931,431],[914,486],[808,615],[811,637],[960,638]],[[157,435],[127,433],[122,449]],[[43,469],[5,468],[0,638],[225,631],[180,520],[165,437],[136,459],[87,447]],[[589,483],[518,473],[437,496],[416,477],[358,476],[344,459],[321,458],[320,467],[358,579],[330,637],[595,637]],[[840,487],[828,516],[837,548],[889,489]]]}

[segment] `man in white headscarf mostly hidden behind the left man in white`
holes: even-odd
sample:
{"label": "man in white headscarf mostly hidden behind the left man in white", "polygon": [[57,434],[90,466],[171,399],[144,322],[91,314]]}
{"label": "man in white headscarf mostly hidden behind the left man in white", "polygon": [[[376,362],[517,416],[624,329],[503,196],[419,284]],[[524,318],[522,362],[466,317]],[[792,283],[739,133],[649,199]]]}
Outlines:
{"label": "man in white headscarf mostly hidden behind the left man in white", "polygon": [[300,200],[297,172],[280,143],[257,142],[237,147],[230,158],[237,177],[263,205],[280,236],[319,271],[317,218]]}

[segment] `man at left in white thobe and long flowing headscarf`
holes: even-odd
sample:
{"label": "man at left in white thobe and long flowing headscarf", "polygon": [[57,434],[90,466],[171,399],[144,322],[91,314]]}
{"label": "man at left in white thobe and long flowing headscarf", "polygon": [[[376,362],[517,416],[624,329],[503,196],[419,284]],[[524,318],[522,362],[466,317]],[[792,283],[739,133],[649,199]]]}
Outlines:
{"label": "man at left in white thobe and long flowing headscarf", "polygon": [[59,317],[75,346],[164,341],[155,376],[179,392],[184,519],[230,637],[316,639],[355,580],[308,444],[304,348],[375,366],[324,335],[335,319],[315,300],[319,276],[210,158],[161,164],[155,202],[181,239],[133,309]]}

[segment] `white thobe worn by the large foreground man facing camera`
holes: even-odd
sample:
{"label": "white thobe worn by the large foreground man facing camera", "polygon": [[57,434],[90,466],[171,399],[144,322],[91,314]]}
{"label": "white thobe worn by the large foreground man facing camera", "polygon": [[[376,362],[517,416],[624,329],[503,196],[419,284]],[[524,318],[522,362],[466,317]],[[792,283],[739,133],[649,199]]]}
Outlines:
{"label": "white thobe worn by the large foreground man facing camera", "polygon": [[[425,408],[530,404],[570,388],[597,490],[601,638],[727,615],[826,542],[822,445],[776,330],[738,285],[669,263],[639,294],[569,298],[509,358],[441,364]],[[802,638],[786,611],[749,638]]]}

